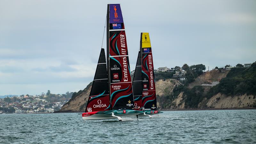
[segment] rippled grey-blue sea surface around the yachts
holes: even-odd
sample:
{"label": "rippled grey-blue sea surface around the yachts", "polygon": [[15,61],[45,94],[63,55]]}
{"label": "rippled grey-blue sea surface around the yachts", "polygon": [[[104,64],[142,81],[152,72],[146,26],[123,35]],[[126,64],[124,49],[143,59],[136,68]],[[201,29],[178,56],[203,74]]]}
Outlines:
{"label": "rippled grey-blue sea surface around the yachts", "polygon": [[165,111],[84,121],[76,113],[0,115],[0,143],[256,143],[256,110]]}

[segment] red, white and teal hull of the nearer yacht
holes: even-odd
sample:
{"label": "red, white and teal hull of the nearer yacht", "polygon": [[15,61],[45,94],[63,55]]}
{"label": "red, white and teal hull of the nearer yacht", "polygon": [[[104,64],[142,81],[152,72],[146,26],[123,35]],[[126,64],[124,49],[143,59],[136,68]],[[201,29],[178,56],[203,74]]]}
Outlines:
{"label": "red, white and teal hull of the nearer yacht", "polygon": [[[86,112],[82,114],[84,120],[101,120],[101,119],[115,119],[122,120],[122,117],[136,116],[142,111],[138,110],[107,110],[107,111],[96,111]],[[121,119],[120,119],[121,118]]]}

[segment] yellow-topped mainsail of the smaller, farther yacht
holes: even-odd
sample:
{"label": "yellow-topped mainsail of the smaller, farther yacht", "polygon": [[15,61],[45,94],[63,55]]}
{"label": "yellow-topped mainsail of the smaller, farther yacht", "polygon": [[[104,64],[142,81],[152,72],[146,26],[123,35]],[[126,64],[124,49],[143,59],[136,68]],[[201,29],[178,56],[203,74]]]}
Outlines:
{"label": "yellow-topped mainsail of the smaller, farther yacht", "polygon": [[152,49],[148,33],[141,33],[141,65],[142,65],[142,106],[143,110],[156,110],[156,87]]}

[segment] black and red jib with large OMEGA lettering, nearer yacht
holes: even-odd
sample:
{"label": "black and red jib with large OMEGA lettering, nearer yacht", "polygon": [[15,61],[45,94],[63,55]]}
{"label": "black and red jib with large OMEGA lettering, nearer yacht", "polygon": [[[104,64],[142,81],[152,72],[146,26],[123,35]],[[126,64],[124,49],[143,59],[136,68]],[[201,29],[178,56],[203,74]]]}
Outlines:
{"label": "black and red jib with large OMEGA lettering, nearer yacht", "polygon": [[85,112],[103,110],[110,110],[110,102],[106,56],[104,49],[101,49]]}

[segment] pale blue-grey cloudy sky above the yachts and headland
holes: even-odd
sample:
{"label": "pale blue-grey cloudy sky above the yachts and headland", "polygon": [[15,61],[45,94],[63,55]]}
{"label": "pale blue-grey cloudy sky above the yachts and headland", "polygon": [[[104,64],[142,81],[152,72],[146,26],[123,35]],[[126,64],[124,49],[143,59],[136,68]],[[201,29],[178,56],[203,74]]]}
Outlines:
{"label": "pale blue-grey cloudy sky above the yachts and headland", "polygon": [[[121,4],[130,68],[148,32],[154,69],[256,60],[256,1],[0,1],[0,95],[77,92],[93,80],[107,4]],[[103,41],[106,48],[106,33]]]}

